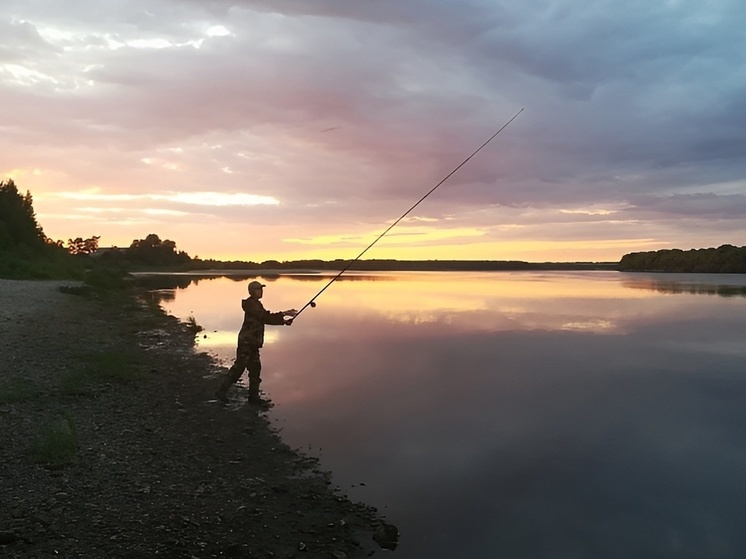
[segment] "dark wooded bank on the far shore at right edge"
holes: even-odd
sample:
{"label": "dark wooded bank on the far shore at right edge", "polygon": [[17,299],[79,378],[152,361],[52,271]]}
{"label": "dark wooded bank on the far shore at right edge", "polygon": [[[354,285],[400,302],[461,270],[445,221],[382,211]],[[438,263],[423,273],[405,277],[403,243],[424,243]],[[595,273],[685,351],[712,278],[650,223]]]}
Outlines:
{"label": "dark wooded bank on the far shore at right edge", "polygon": [[722,245],[686,251],[633,252],[622,257],[618,269],[622,272],[746,274],[746,247]]}

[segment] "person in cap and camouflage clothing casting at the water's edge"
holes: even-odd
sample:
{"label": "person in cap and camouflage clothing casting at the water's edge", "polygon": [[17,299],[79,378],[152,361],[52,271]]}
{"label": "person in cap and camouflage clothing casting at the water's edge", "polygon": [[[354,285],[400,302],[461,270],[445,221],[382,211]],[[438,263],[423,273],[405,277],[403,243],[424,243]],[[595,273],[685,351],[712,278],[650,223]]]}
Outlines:
{"label": "person in cap and camouflage clothing casting at the water's edge", "polygon": [[260,373],[262,362],[259,358],[259,348],[264,345],[264,325],[290,326],[293,317],[298,314],[295,309],[271,313],[264,308],[260,299],[264,294],[264,284],[258,281],[249,283],[249,298],[241,301],[244,310],[244,319],[241,330],[238,333],[238,348],[236,350],[236,361],[228,370],[228,375],[223,379],[215,396],[221,402],[228,401],[228,389],[235,384],[245,369],[249,370],[249,403],[261,404],[259,396],[259,383],[262,382]]}

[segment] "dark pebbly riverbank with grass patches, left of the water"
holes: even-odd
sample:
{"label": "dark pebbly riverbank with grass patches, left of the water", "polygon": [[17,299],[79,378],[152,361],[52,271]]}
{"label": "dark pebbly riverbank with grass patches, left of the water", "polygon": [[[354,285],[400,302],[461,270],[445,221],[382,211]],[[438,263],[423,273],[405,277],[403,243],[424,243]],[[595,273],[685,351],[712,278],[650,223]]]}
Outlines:
{"label": "dark pebbly riverbank with grass patches, left of the water", "polygon": [[0,280],[0,556],[388,553],[373,509],[214,400],[222,371],[187,325],[61,285]]}

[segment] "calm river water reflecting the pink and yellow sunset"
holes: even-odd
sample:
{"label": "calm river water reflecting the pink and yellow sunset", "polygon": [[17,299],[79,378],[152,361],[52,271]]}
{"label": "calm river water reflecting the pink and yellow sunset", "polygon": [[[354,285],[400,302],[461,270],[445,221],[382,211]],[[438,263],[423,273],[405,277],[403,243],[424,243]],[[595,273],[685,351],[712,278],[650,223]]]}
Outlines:
{"label": "calm river water reflecting the pink and yellow sunset", "polygon": [[[281,310],[328,277],[264,280]],[[246,284],[164,306],[230,364]],[[267,331],[283,438],[393,557],[746,557],[746,276],[350,274]]]}

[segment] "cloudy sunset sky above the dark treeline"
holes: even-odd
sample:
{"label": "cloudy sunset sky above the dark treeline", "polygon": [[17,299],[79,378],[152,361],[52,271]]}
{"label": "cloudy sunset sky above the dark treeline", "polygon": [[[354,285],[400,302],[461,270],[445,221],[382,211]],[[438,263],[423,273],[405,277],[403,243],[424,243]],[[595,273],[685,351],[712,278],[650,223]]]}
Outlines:
{"label": "cloudy sunset sky above the dark treeline", "polygon": [[221,260],[746,244],[742,0],[3,0],[0,179]]}

